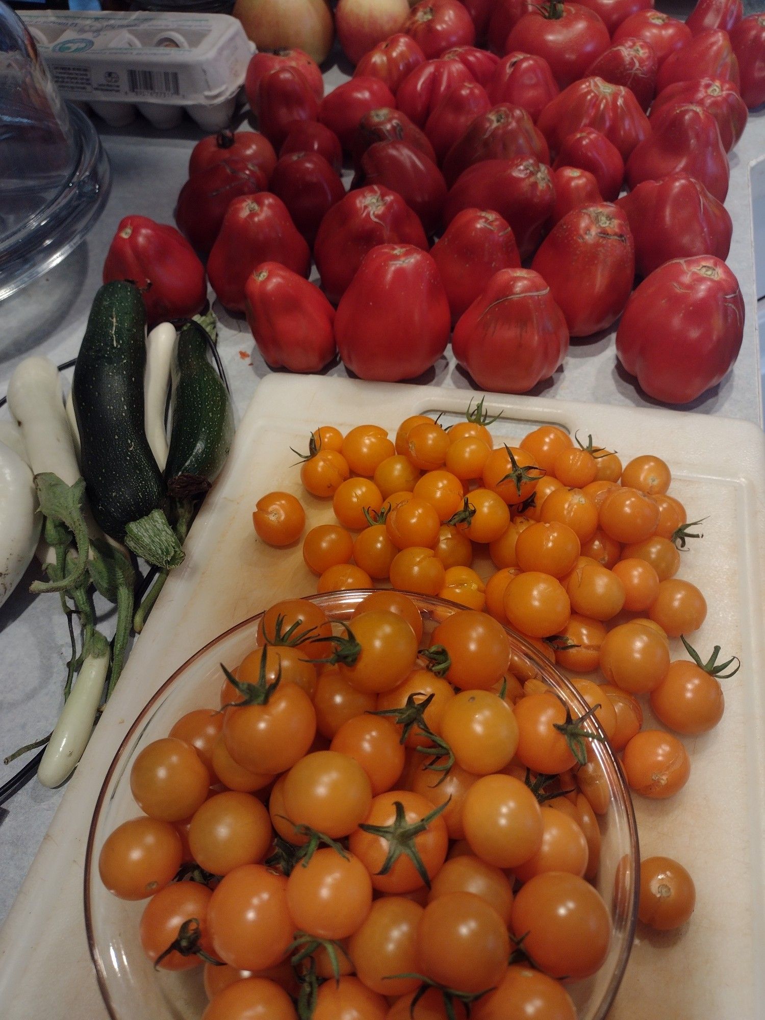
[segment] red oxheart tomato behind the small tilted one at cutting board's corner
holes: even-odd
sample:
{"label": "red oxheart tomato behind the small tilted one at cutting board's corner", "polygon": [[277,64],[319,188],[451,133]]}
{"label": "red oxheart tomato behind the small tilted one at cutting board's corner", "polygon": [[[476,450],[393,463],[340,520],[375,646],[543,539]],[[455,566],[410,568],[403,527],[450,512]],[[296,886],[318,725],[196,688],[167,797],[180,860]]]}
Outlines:
{"label": "red oxheart tomato behind the small tilted one at cutting board's corner", "polygon": [[207,259],[207,274],[226,308],[245,310],[245,284],[261,262],[280,262],[307,276],[311,251],[287,206],[270,192],[235,198]]}

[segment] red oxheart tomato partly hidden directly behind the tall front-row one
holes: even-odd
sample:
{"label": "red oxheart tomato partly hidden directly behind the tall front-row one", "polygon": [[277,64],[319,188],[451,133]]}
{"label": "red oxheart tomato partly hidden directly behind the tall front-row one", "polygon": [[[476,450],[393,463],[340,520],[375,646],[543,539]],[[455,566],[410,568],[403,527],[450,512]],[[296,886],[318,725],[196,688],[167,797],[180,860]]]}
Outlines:
{"label": "red oxheart tomato partly hidden directly behind the tall front-row one", "polygon": [[366,253],[385,244],[427,251],[422,224],[400,195],[373,185],[349,192],[332,207],[316,235],[313,257],[333,304],[340,301]]}

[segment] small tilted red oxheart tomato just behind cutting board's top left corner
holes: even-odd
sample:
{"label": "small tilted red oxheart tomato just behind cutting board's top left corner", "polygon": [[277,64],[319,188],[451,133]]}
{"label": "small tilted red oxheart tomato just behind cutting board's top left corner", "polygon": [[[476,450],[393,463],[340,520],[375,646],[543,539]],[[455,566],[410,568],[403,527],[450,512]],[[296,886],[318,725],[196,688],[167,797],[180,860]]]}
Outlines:
{"label": "small tilted red oxheart tomato just behind cutting board's top left corner", "polygon": [[335,357],[335,309],[318,287],[287,266],[263,262],[247,277],[245,310],[271,368],[317,372]]}

